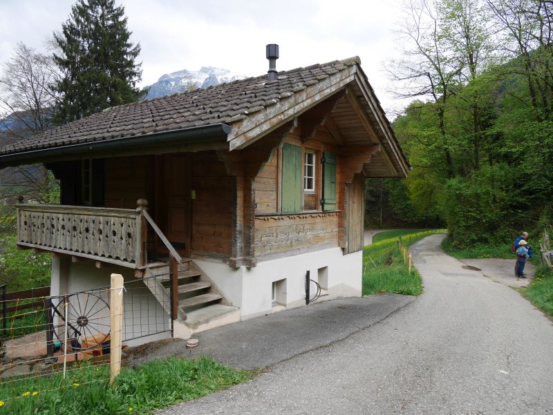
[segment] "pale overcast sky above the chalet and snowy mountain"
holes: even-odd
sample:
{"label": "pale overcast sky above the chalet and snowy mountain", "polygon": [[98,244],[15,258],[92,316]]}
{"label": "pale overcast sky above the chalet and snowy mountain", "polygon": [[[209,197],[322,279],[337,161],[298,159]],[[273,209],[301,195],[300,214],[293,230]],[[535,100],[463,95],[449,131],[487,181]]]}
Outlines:
{"label": "pale overcast sky above the chalet and snowy mountain", "polygon": [[[216,66],[247,76],[266,73],[265,45],[280,46],[277,70],[359,56],[377,97],[386,91],[382,61],[398,54],[395,0],[116,0],[142,52],[142,86],[176,70]],[[0,0],[0,62],[18,41],[45,50],[75,0]]]}

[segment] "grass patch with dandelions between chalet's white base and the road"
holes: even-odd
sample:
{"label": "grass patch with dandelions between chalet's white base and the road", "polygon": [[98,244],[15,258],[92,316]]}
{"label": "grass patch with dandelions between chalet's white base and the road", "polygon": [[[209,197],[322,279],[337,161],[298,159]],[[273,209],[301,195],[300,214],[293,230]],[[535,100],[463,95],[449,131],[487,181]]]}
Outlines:
{"label": "grass patch with dandelions between chalet's white base and the road", "polygon": [[[445,229],[421,230],[402,229],[377,233],[373,244],[363,250],[363,295],[373,293],[397,293],[418,296],[424,291],[420,274],[413,267],[409,273],[408,265],[397,246],[401,235],[404,246],[433,233],[444,233]],[[388,238],[380,238],[384,234]],[[391,235],[391,236],[390,236]]]}

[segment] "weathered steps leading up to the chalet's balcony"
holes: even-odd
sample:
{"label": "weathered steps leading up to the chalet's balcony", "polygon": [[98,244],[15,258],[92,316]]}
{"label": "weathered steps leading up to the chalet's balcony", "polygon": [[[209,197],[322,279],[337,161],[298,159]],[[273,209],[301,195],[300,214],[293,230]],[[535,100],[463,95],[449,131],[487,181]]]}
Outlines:
{"label": "weathered steps leading up to the chalet's balcony", "polygon": [[[148,268],[144,284],[171,315],[169,264],[158,263]],[[198,327],[236,310],[194,261],[183,259],[182,264],[178,264],[178,320]]]}

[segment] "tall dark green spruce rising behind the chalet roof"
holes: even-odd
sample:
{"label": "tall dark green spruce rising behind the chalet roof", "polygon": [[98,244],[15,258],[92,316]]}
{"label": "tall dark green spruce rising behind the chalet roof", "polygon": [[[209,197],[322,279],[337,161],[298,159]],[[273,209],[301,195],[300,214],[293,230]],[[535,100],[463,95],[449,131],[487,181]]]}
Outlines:
{"label": "tall dark green spruce rising behind the chalet roof", "polygon": [[135,59],[140,44],[129,38],[123,6],[115,0],[77,0],[62,33],[54,33],[61,53],[54,59],[63,77],[55,85],[61,95],[54,121],[63,124],[104,108],[138,101],[144,93]]}

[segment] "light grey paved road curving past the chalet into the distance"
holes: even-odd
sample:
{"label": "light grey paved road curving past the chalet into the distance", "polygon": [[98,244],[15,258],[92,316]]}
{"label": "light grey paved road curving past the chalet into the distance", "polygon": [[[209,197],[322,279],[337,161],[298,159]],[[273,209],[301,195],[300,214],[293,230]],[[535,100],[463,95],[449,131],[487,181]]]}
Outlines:
{"label": "light grey paved road curving past the chalet into the distance", "polygon": [[417,300],[164,414],[553,414],[552,322],[444,255],[442,238],[411,247],[425,287]]}

